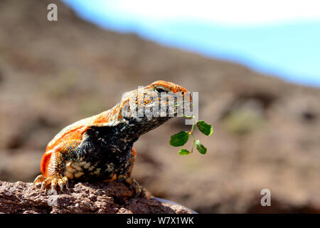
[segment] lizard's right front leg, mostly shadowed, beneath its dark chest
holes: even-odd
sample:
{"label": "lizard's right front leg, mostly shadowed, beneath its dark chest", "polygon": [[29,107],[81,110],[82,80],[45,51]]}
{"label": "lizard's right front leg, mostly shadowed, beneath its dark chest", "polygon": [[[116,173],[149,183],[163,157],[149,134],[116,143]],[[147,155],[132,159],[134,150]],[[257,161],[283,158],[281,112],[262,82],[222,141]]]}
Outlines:
{"label": "lizard's right front leg, mostly shadowed, beneath its dark chest", "polygon": [[117,180],[118,182],[125,182],[127,185],[129,185],[130,189],[134,189],[135,192],[135,196],[136,197],[142,197],[145,198],[146,197],[146,192],[144,190],[144,187],[142,185],[140,185],[137,180],[134,180],[131,177],[131,173],[132,173],[132,169],[134,167],[134,161],[137,157],[137,152],[136,150],[134,150],[134,148],[132,147],[131,150],[131,155],[130,155],[130,165],[129,165],[129,169],[127,170],[126,173],[124,174],[120,174],[117,175]]}

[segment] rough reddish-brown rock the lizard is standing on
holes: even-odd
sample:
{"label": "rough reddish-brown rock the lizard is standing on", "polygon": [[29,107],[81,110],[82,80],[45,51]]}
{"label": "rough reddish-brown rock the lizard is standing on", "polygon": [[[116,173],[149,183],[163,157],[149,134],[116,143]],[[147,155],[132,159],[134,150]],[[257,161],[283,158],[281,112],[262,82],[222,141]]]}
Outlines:
{"label": "rough reddish-brown rock the lizard is standing on", "polygon": [[118,182],[77,183],[58,195],[40,192],[32,183],[0,182],[0,213],[155,213],[188,214],[183,206],[161,203],[156,199],[138,199],[133,191]]}

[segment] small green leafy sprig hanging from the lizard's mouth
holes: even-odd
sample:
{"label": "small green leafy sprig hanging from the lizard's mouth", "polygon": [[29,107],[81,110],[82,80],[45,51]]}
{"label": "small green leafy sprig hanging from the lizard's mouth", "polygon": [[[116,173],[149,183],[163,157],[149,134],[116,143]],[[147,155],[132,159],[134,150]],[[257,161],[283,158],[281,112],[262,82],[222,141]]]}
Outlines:
{"label": "small green leafy sprig hanging from the lizard's mouth", "polygon": [[[193,115],[188,116],[188,115],[183,115],[184,118],[195,118]],[[174,147],[180,147],[182,145],[185,145],[186,142],[188,142],[190,135],[193,139],[193,144],[192,144],[192,148],[191,151],[186,150],[185,148],[182,148],[181,150],[179,150],[179,155],[190,155],[193,152],[193,148],[194,145],[196,145],[196,148],[198,150],[198,152],[200,152],[201,154],[205,155],[207,152],[207,148],[204,147],[199,140],[196,140],[194,138],[193,135],[193,129],[194,129],[194,125],[197,125],[198,129],[201,131],[201,133],[203,133],[204,135],[211,135],[213,133],[213,127],[212,125],[206,123],[203,120],[199,120],[197,123],[193,123],[191,131],[181,131],[175,135],[171,135],[171,139],[170,139],[170,145],[173,145]]]}

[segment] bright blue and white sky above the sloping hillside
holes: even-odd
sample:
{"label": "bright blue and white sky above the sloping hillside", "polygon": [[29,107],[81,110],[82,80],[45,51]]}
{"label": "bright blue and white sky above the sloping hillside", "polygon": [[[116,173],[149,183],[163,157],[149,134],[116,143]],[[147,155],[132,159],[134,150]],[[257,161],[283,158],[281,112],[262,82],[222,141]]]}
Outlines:
{"label": "bright blue and white sky above the sloping hillside", "polygon": [[320,1],[63,0],[103,28],[320,87]]}

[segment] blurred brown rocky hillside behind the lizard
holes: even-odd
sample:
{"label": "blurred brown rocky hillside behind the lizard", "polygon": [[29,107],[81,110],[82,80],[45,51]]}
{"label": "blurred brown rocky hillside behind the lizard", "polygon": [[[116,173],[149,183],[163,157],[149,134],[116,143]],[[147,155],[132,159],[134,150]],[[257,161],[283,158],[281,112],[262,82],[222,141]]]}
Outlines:
{"label": "blurred brown rocky hillside behind the lizard", "polygon": [[[320,212],[320,89],[235,63],[105,31],[60,1],[0,1],[0,180],[33,181],[46,144],[70,123],[156,80],[199,92],[206,155],[178,155],[182,118],[136,143],[133,177],[156,197],[201,213]],[[271,191],[262,207],[260,191]]]}

